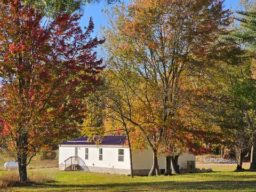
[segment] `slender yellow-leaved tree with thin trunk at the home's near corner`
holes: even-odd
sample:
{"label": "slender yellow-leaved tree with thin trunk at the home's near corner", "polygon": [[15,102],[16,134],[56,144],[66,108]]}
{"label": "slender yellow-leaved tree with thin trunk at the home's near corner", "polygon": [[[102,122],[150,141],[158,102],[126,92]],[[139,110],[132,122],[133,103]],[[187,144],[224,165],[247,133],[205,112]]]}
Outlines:
{"label": "slender yellow-leaved tree with thin trunk at the home's near corner", "polygon": [[[130,79],[130,83],[138,83],[138,75],[129,70],[125,71],[125,75]],[[145,141],[138,135],[139,130],[136,130],[136,127],[125,118],[132,118],[134,113],[131,111],[131,106],[136,106],[137,100],[129,87],[119,81],[116,74],[106,69],[101,76],[103,84],[92,94],[93,101],[89,102],[91,105],[89,113],[86,112],[84,118],[83,133],[90,135],[92,139],[109,133],[125,134],[127,137],[125,145],[129,147],[131,177],[133,177],[132,150],[146,147]],[[102,119],[102,121],[99,124],[95,119]]]}

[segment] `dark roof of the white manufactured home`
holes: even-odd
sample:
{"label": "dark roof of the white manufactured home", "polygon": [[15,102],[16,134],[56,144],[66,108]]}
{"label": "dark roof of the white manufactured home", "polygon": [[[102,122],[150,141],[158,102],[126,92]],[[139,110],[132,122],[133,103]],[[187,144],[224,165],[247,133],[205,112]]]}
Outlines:
{"label": "dark roof of the white manufactured home", "polygon": [[[70,141],[64,141],[60,145],[95,145],[94,141],[87,141],[88,137],[81,137]],[[99,145],[124,145],[126,135],[106,135]]]}

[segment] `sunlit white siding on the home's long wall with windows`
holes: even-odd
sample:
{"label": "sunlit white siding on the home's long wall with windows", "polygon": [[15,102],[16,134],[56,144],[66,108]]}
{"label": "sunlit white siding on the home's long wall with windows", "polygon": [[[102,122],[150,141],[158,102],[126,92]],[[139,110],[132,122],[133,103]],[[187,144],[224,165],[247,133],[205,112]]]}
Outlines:
{"label": "sunlit white siding on the home's long wall with windows", "polygon": [[[82,159],[86,166],[108,167],[116,169],[130,169],[130,154],[129,148],[122,146],[79,146],[78,157]],[[85,148],[88,148],[89,159],[85,159]],[[103,149],[103,160],[99,160],[99,148]],[[124,149],[124,161],[118,162],[118,149]],[[75,155],[75,146],[60,146],[59,147],[59,164]],[[81,161],[81,160],[80,160]]]}

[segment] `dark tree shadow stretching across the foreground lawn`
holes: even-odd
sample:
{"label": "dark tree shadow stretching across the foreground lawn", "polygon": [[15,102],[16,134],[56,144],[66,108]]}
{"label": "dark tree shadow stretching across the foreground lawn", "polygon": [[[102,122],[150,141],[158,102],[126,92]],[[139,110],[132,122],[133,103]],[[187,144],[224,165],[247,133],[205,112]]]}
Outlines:
{"label": "dark tree shadow stretching across the foreground lawn", "polygon": [[[247,177],[246,177],[247,178]],[[102,183],[90,185],[61,185],[58,183],[46,183],[43,185],[28,186],[31,188],[42,188],[42,190],[60,191],[72,190],[111,190],[111,191],[149,191],[149,190],[253,190],[256,187],[255,180],[239,181],[239,180],[222,180],[222,181],[156,181],[156,182],[130,182],[130,183]],[[85,181],[86,182],[86,181]],[[19,187],[18,187],[19,188]],[[61,190],[62,191],[62,190]]]}

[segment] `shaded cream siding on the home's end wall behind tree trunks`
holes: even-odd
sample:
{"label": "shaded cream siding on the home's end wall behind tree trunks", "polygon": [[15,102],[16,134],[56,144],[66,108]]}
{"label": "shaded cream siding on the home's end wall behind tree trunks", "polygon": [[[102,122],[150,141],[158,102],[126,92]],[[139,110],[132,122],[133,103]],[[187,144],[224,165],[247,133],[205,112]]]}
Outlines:
{"label": "shaded cream siding on the home's end wall behind tree trunks", "polygon": [[[178,159],[178,164],[183,169],[187,169],[187,161],[196,161],[196,156],[190,155],[190,154],[183,154]],[[132,154],[132,163],[133,163],[133,169],[151,169],[151,166],[153,164],[153,152],[150,149],[145,149],[143,151],[136,150]],[[165,157],[160,156],[158,157],[158,166],[159,169],[164,169],[165,167]]]}

